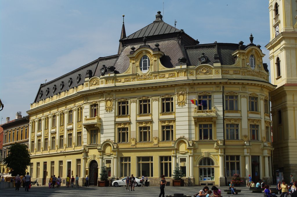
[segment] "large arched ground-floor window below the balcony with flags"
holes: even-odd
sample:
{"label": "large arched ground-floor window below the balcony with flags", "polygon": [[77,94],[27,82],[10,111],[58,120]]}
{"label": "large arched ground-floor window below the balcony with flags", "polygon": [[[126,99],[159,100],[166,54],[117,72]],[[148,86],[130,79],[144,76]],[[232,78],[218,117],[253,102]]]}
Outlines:
{"label": "large arched ground-floor window below the balcony with flags", "polygon": [[211,158],[206,157],[199,162],[199,180],[214,180],[214,161]]}

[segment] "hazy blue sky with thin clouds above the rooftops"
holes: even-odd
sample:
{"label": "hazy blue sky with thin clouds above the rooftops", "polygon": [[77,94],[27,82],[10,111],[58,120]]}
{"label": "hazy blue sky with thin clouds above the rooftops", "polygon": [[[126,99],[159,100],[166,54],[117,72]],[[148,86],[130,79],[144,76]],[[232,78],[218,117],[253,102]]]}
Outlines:
{"label": "hazy blue sky with thin clouds above the rooftops", "polygon": [[267,0],[0,0],[2,123],[15,119],[17,111],[26,115],[45,79],[116,54],[123,14],[128,36],[150,24],[159,10],[166,23],[174,26],[176,20],[176,28],[201,44],[249,44],[252,33],[269,65]]}

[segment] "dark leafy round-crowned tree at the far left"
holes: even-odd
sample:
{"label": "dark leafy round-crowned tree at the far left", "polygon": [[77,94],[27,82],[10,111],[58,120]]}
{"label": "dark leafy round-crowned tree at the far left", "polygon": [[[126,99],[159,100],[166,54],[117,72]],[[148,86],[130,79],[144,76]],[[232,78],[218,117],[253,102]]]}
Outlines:
{"label": "dark leafy round-crowned tree at the far left", "polygon": [[25,144],[13,144],[8,149],[8,155],[4,158],[4,165],[10,169],[9,174],[13,177],[26,173],[27,166],[30,165],[31,158],[28,147]]}

